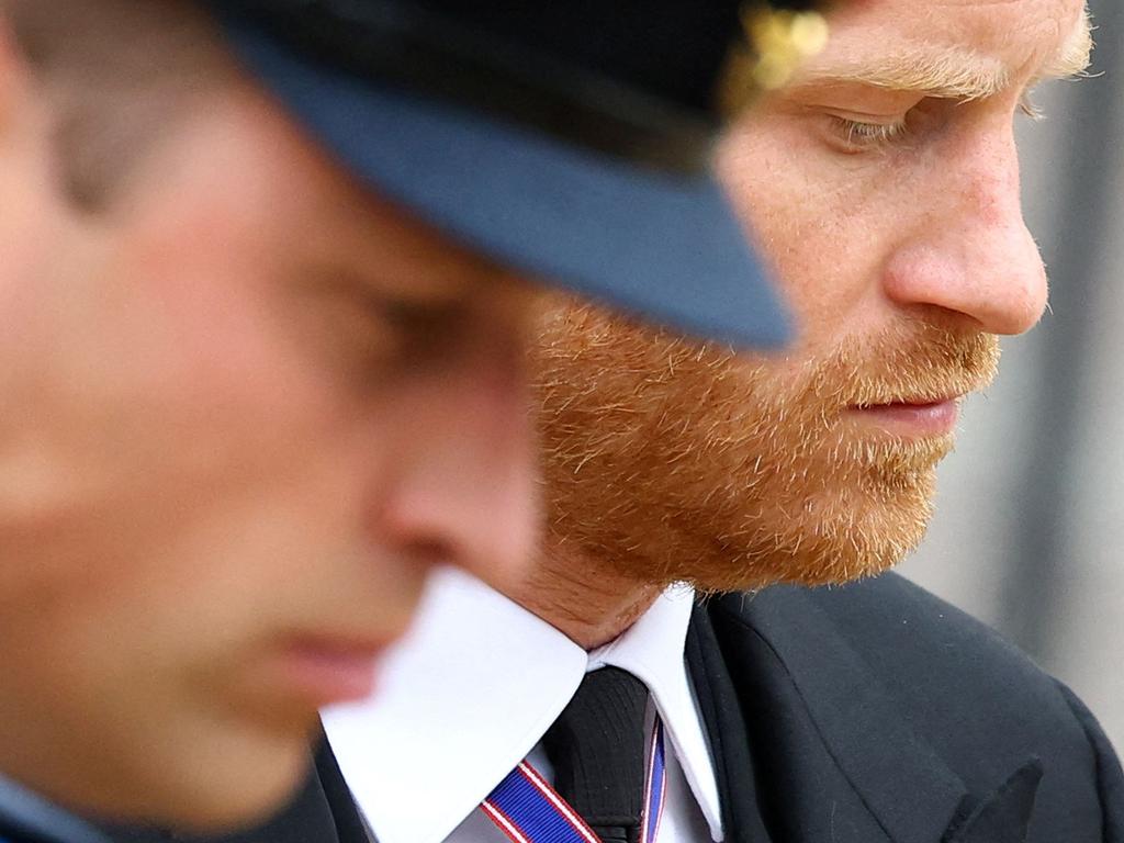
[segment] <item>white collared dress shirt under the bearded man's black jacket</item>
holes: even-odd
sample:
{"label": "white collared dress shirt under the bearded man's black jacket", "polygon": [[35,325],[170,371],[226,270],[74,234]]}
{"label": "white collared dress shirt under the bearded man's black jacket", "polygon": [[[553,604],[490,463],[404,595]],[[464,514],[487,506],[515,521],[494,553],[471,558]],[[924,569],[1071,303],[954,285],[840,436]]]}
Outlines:
{"label": "white collared dress shirt under the bearded man's black jacket", "polygon": [[615,665],[651,691],[668,749],[660,843],[723,839],[718,788],[683,661],[694,592],[673,587],[620,637],[587,653],[478,580],[432,578],[415,626],[368,701],[324,713],[344,778],[379,843],[504,843],[480,803],[525,758],[587,671]]}

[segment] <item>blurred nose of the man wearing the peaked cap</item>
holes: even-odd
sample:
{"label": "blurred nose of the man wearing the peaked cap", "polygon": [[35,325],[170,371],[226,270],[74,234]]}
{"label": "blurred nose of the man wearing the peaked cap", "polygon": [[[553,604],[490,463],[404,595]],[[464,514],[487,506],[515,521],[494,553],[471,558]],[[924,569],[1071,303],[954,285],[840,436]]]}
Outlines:
{"label": "blurred nose of the man wearing the peaked cap", "polygon": [[377,529],[501,586],[529,563],[540,507],[525,338],[497,321],[398,408],[408,429]]}

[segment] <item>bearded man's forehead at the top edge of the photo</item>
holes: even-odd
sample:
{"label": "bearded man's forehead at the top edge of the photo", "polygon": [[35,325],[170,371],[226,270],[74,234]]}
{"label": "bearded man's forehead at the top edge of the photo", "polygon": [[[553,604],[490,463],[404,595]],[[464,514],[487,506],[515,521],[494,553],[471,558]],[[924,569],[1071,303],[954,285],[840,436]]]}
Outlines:
{"label": "bearded man's forehead at the top edge of the photo", "polygon": [[850,0],[835,7],[828,47],[805,72],[963,56],[1014,81],[1073,73],[1087,53],[1085,0]]}

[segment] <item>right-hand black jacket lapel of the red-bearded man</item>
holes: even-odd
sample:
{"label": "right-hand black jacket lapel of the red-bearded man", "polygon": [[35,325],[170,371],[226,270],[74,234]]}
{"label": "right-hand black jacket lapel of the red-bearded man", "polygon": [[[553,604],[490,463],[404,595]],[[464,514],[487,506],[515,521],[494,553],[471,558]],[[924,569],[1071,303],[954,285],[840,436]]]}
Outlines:
{"label": "right-hand black jacket lapel of the red-bearded man", "polygon": [[[764,830],[809,843],[1024,840],[1036,762],[984,799],[970,795],[803,589],[715,599],[691,631],[715,755],[732,752],[732,720],[752,754],[716,763],[733,840],[768,841]],[[736,814],[749,806],[763,827]]]}

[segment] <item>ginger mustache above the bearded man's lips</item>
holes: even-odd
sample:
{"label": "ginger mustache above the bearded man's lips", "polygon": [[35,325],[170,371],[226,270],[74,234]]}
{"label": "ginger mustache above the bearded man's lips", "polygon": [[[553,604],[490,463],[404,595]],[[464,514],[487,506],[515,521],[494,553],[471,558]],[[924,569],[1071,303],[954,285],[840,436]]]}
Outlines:
{"label": "ginger mustache above the bearded man's lips", "polygon": [[932,404],[986,389],[998,365],[994,334],[914,323],[844,342],[809,363],[808,383],[822,406]]}

